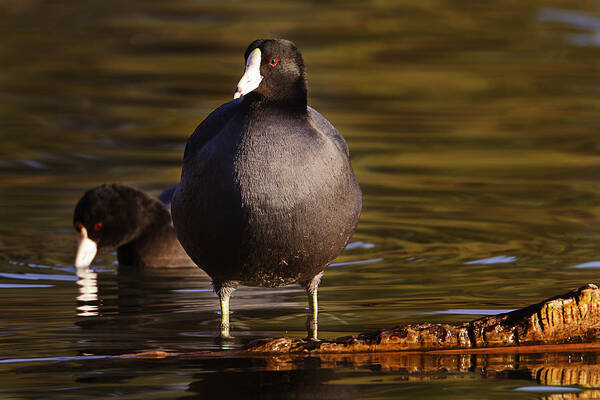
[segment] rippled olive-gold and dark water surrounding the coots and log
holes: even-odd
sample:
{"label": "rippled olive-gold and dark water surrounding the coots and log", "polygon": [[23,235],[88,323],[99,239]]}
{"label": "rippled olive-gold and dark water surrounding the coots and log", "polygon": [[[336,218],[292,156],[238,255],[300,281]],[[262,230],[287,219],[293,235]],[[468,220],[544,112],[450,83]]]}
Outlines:
{"label": "rippled olive-gold and dark water surrounding the coots and log", "polygon": [[[285,37],[364,192],[320,289],[321,337],[597,282],[599,3],[22,0],[0,2],[0,33],[1,397],[600,396],[595,353],[106,358],[221,349],[216,297],[196,269],[117,274],[109,251],[78,276],[71,226],[95,185],[176,183],[246,46]],[[241,289],[231,306],[226,347],[305,334],[299,287]]]}

